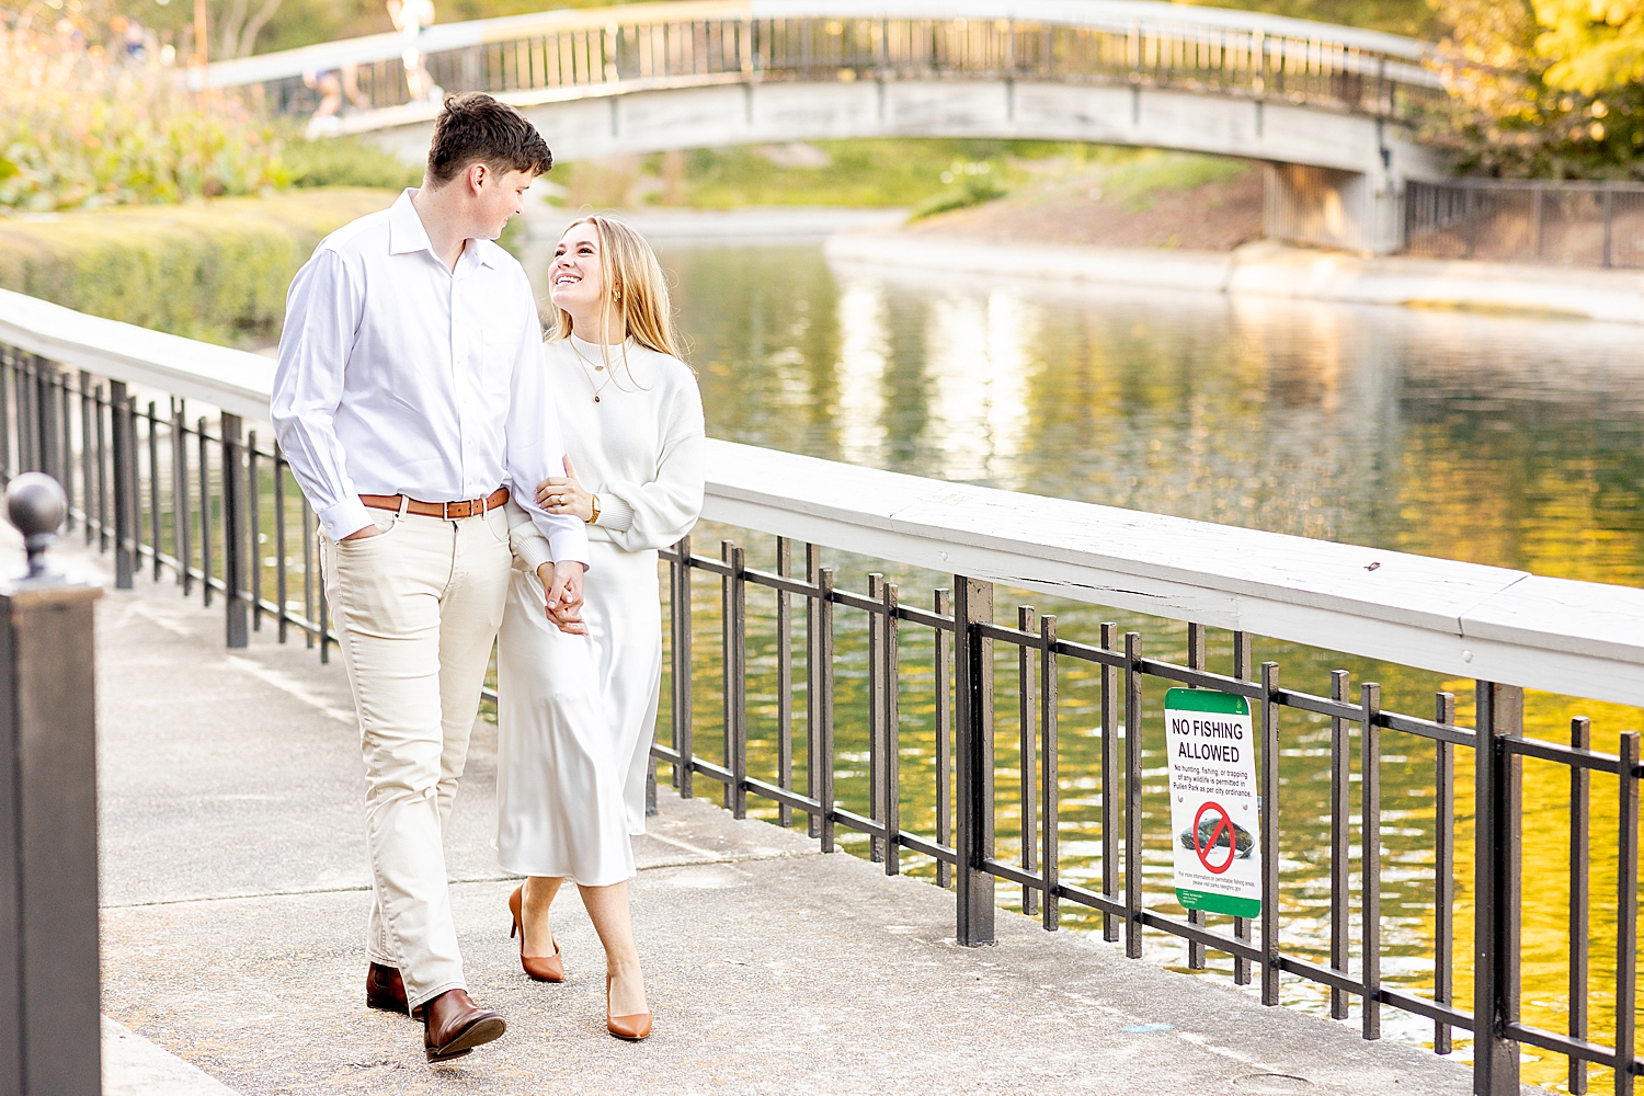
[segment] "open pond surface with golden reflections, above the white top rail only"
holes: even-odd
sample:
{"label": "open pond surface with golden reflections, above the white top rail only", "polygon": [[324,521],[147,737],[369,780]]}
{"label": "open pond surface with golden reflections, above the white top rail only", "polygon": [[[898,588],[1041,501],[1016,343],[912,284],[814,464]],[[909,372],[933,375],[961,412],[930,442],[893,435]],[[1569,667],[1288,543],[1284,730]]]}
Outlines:
{"label": "open pond surface with golden reflections, above the white top rail only", "polygon": [[1636,329],[666,253],[720,437],[1644,582]]}

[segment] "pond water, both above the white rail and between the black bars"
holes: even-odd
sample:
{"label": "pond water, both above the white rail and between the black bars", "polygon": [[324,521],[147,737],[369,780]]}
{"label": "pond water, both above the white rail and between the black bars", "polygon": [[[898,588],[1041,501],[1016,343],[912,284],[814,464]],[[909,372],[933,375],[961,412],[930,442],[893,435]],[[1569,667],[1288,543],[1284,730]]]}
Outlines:
{"label": "pond water, both above the white rail and between the black bars", "polygon": [[[661,253],[677,281],[676,304],[715,437],[1544,575],[1644,582],[1644,329],[845,268],[814,245]],[[769,565],[769,537],[699,529],[695,550],[717,554],[722,532],[746,541],[751,564]],[[838,552],[825,562],[855,590],[866,587],[870,569],[886,572],[901,583],[904,603],[929,605],[932,587],[950,582]],[[1180,624],[1008,592],[1000,592],[1001,619],[1014,619],[1013,598],[1057,613],[1064,638],[1095,641],[1100,621],[1113,619],[1143,631],[1149,654],[1185,661]],[[769,774],[774,615],[756,595],[750,601],[750,766]],[[697,743],[707,744],[720,726],[715,583],[699,580],[694,608],[695,726]],[[860,615],[840,611],[840,628],[838,787],[845,805],[865,810],[865,626]],[[903,647],[903,823],[934,833],[929,633],[904,628]],[[1230,636],[1212,633],[1212,669],[1230,670]],[[1258,639],[1256,662],[1269,659],[1291,687],[1328,693],[1328,672],[1340,667],[1353,672],[1351,695],[1360,680],[1379,680],[1386,708],[1429,718],[1434,692],[1452,690],[1458,721],[1471,723],[1471,682]],[[1064,669],[1062,874],[1100,889],[1097,677]],[[1001,652],[998,695],[1001,859],[1014,856],[1021,835],[1013,688],[1009,651]],[[1144,881],[1149,905],[1179,912],[1164,822],[1162,688],[1149,690]],[[1614,749],[1621,730],[1644,728],[1644,713],[1616,705],[1532,693],[1527,708],[1529,733],[1555,739],[1568,735],[1572,715],[1593,716],[1600,749]],[[796,710],[804,711],[802,698]],[[667,735],[664,711],[659,736]],[[1286,711],[1281,743],[1282,946],[1328,961],[1328,723]],[[1391,733],[1383,748],[1383,978],[1427,996],[1434,748]],[[1471,751],[1457,753],[1455,955],[1463,969],[1455,999],[1470,1009]],[[802,772],[802,762],[796,769]],[[804,787],[802,776],[796,779]],[[717,790],[702,781],[699,787]],[[1527,762],[1524,787],[1524,1014],[1562,1030],[1568,776]],[[1606,1038],[1613,781],[1606,789],[1595,779],[1593,802],[1591,1030]],[[1356,827],[1351,840],[1356,873]],[[853,848],[863,851],[865,843]],[[906,859],[907,871],[934,874],[929,861]],[[1001,886],[1000,894],[1019,902],[1016,887]],[[1065,927],[1100,933],[1100,917],[1062,909]],[[1356,940],[1356,923],[1353,933]],[[1185,946],[1164,935],[1151,933],[1146,948],[1172,966],[1185,963]],[[1208,976],[1230,968],[1226,956],[1212,955]],[[1287,1004],[1327,1009],[1317,986],[1287,979],[1282,994]],[[1383,1015],[1389,1037],[1434,1038],[1430,1022],[1394,1009]],[[1466,1057],[1465,1040],[1457,1053]],[[1559,1081],[1563,1068],[1554,1055],[1524,1065],[1535,1083]],[[1601,1071],[1593,1076],[1603,1083]]]}

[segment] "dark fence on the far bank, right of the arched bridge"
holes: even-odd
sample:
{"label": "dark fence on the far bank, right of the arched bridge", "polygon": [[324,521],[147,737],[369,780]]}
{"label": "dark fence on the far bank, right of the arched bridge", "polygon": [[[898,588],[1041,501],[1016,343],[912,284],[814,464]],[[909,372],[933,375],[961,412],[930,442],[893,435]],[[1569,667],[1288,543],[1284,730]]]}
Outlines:
{"label": "dark fence on the far bank, right of the arched bridge", "polygon": [[1644,268],[1644,184],[1409,182],[1404,240],[1422,258]]}

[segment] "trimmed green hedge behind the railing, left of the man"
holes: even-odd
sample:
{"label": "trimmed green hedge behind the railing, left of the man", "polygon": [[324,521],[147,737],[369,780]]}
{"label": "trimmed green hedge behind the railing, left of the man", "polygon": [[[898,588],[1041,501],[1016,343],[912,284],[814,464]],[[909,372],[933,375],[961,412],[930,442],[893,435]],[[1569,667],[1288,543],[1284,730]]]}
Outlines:
{"label": "trimmed green hedge behind the railing, left of the man", "polygon": [[279,334],[286,289],[314,246],[391,191],[127,205],[0,220],[0,288],[227,345]]}

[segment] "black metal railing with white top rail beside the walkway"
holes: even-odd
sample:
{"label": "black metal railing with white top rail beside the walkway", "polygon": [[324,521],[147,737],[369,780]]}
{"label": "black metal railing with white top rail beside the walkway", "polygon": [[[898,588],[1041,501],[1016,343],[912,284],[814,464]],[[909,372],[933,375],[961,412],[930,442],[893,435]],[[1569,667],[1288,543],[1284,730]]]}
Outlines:
{"label": "black metal railing with white top rail beside the walkway", "polygon": [[[224,601],[229,646],[273,629],[327,657],[314,519],[258,427],[265,358],[12,292],[0,292],[0,478],[58,477],[76,531],[113,554],[118,587],[146,573],[184,596],[197,588]],[[1644,592],[728,442],[709,457],[705,518],[761,539],[705,555],[687,537],[663,554],[669,703],[653,756],[681,795],[705,779],[738,817],[802,815],[824,850],[860,848],[889,874],[952,886],[967,945],[993,940],[995,902],[1008,899],[1047,930],[1123,940],[1133,958],[1166,942],[1194,969],[1231,956],[1233,981],[1258,981],[1266,1004],[1323,994],[1366,1038],[1389,1011],[1430,1024],[1438,1053],[1471,1034],[1478,1093],[1517,1091],[1521,1043],[1567,1055],[1570,1091],[1596,1065],[1631,1093],[1644,1071],[1639,736],[1586,718],[1568,738],[1527,736],[1524,693],[1644,703]],[[848,588],[840,562],[868,559],[889,567]],[[903,595],[934,575],[945,578],[922,605]],[[1134,623],[1075,634],[1028,606],[996,611],[1000,587],[1047,593],[1069,618],[1093,603]],[[1314,670],[1343,656],[1307,647],[1473,685],[1407,715],[1346,670],[1299,688],[1276,659],[1256,661],[1258,642]],[[1161,884],[1177,838],[1152,767],[1171,685],[1251,705],[1254,919],[1212,923]],[[1468,692],[1471,726],[1458,720]],[[1327,767],[1295,769],[1312,753]],[[1060,771],[1074,758],[1077,779]],[[1526,762],[1552,774],[1535,782],[1529,874]],[[1384,774],[1412,764],[1430,772],[1432,802],[1389,805]],[[1304,909],[1323,882],[1302,861],[1328,866],[1323,914]],[[1539,966],[1549,932],[1568,956],[1563,992],[1539,969],[1529,1001],[1537,1015],[1562,1012],[1559,1030],[1524,1020],[1526,920]]]}

